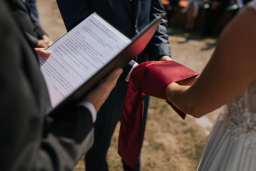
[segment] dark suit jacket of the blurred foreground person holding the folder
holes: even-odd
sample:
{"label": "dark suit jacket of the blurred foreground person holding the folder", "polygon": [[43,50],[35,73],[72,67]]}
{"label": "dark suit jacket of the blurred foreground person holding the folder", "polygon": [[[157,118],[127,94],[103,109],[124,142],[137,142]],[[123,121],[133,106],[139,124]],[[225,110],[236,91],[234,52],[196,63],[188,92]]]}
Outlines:
{"label": "dark suit jacket of the blurred foreground person holding the folder", "polygon": [[93,143],[91,114],[44,115],[50,101],[36,54],[0,3],[1,170],[71,170]]}

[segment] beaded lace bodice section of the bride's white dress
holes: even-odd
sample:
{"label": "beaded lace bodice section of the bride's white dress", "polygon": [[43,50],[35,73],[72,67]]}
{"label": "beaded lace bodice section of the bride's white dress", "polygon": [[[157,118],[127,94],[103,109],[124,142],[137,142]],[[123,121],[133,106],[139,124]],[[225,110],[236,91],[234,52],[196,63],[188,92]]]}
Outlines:
{"label": "beaded lace bodice section of the bride's white dress", "polygon": [[256,142],[256,81],[222,107],[219,120],[225,123],[227,131],[243,134]]}

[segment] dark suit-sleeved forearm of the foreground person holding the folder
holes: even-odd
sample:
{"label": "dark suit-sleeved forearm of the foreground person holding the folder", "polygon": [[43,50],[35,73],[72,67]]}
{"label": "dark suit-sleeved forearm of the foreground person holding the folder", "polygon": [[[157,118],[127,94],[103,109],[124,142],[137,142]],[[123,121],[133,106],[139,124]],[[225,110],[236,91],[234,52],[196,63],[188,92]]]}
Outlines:
{"label": "dark suit-sleeved forearm of the foreground person holding the folder", "polygon": [[[76,116],[67,118],[68,121],[52,121],[44,131],[40,148],[34,149],[38,151],[37,161],[24,163],[31,163],[33,170],[71,170],[94,142],[90,112],[84,107],[77,110],[72,112]],[[76,121],[71,122],[73,119]]]}

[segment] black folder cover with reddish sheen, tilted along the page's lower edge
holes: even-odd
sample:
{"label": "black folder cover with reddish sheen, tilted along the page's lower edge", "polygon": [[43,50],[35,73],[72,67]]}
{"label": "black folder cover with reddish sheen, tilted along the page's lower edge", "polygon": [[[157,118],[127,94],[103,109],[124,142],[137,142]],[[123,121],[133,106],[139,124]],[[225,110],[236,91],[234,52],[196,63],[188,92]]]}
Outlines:
{"label": "black folder cover with reddish sheen, tilted along the page's lower edge", "polygon": [[131,60],[139,55],[148,42],[156,32],[159,23],[164,18],[166,13],[158,15],[157,18],[152,20],[146,27],[144,27],[138,34],[136,34],[131,40],[132,42],[124,48],[118,55],[116,55],[108,64],[106,64],[101,70],[94,74],[89,80],[84,82],[82,86],[77,88],[71,95],[65,98],[56,107],[51,107],[46,114],[52,117],[61,116],[63,111],[74,107],[82,100],[82,98],[88,94],[99,82],[105,78],[115,68],[125,67]]}

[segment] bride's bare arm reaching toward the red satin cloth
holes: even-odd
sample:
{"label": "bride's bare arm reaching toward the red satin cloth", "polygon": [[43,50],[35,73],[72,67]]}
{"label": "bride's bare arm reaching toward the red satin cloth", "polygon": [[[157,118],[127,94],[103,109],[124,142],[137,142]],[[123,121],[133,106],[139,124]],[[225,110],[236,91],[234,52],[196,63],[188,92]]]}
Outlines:
{"label": "bride's bare arm reaching toward the red satin cloth", "polygon": [[245,7],[219,37],[212,58],[192,86],[170,84],[168,99],[201,117],[240,95],[256,79],[256,12]]}

